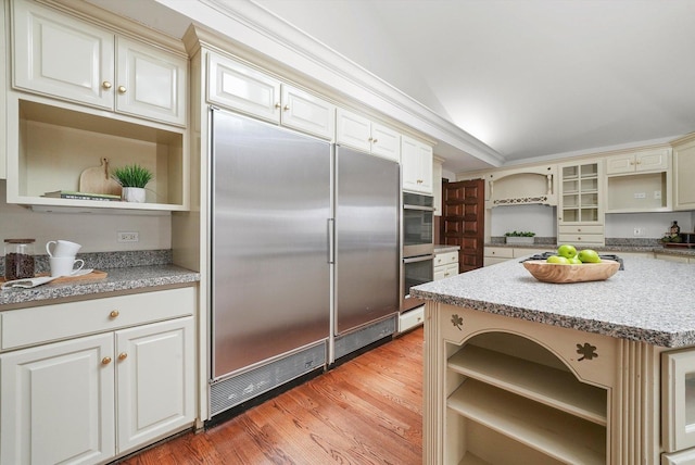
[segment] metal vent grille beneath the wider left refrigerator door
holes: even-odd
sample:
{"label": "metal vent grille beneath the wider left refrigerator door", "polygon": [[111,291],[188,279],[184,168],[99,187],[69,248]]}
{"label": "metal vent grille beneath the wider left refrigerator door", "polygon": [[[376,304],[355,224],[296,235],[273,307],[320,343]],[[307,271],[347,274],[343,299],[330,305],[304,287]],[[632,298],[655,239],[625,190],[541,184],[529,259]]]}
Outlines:
{"label": "metal vent grille beneath the wider left refrigerator door", "polygon": [[217,415],[326,365],[326,344],[314,345],[210,387],[210,412]]}

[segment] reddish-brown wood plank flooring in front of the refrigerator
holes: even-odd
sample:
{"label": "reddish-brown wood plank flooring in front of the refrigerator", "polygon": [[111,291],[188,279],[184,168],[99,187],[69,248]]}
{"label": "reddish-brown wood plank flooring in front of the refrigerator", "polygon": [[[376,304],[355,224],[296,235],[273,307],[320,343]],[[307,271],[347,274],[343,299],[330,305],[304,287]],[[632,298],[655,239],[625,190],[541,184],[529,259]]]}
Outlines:
{"label": "reddish-brown wood plank flooring in front of the refrigerator", "polygon": [[124,465],[422,463],[422,328]]}

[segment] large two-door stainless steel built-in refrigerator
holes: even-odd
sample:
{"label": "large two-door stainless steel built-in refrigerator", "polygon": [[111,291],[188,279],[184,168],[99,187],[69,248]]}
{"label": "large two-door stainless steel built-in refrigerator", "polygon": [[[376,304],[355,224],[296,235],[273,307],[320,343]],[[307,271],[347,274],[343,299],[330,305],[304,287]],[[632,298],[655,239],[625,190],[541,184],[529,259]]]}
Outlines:
{"label": "large two-door stainless steel built-in refrigerator", "polygon": [[400,171],[245,116],[210,117],[215,415],[324,367],[333,330],[397,312]]}

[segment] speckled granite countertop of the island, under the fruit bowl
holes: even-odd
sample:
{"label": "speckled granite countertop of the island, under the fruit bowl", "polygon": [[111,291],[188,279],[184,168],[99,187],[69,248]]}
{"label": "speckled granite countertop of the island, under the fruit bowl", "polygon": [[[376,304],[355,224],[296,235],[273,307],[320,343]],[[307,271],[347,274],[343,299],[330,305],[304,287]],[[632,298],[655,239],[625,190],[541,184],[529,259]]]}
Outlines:
{"label": "speckled granite countertop of the island, under the fruit bowl", "polygon": [[[612,249],[611,249],[612,250]],[[679,348],[695,344],[695,266],[626,256],[604,281],[547,284],[519,260],[410,288],[417,298]]]}

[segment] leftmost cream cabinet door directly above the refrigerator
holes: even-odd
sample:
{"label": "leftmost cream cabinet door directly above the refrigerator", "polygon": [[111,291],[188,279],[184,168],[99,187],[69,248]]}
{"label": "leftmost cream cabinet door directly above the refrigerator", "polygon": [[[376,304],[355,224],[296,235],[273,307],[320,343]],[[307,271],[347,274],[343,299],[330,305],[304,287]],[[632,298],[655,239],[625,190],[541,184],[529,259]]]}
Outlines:
{"label": "leftmost cream cabinet door directly above the refrigerator", "polygon": [[280,123],[280,81],[215,53],[207,55],[207,100]]}

